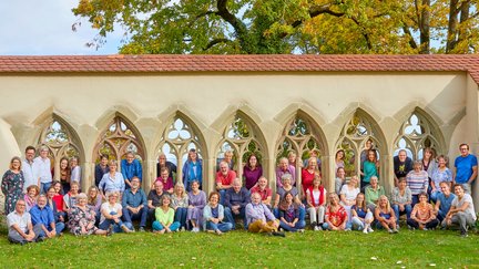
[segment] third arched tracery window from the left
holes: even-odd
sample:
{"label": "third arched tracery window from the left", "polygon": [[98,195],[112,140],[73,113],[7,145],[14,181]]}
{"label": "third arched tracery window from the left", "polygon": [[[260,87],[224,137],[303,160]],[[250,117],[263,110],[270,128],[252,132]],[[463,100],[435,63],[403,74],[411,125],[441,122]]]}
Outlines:
{"label": "third arched tracery window from the left", "polygon": [[160,153],[164,153],[166,159],[176,165],[176,178],[183,177],[183,165],[187,159],[187,153],[191,148],[196,149],[198,158],[203,159],[204,149],[198,137],[198,131],[190,123],[191,121],[183,116],[175,116],[163,132],[160,142],[159,155]]}

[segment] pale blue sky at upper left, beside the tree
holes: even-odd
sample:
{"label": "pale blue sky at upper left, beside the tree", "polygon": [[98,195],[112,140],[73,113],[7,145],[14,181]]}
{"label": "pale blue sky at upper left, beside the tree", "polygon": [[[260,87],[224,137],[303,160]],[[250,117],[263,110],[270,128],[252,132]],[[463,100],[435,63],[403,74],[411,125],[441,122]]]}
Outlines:
{"label": "pale blue sky at upper left, beside the tree", "polygon": [[116,54],[122,33],[114,32],[100,49],[88,48],[96,32],[71,9],[78,0],[0,0],[0,55]]}

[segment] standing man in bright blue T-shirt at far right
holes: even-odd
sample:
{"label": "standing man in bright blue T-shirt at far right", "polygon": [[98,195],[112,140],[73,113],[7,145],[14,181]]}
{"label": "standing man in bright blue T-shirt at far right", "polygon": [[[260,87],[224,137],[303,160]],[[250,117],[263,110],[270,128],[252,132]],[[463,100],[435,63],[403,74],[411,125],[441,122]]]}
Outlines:
{"label": "standing man in bright blue T-shirt at far right", "polygon": [[453,184],[462,184],[466,194],[471,193],[471,184],[477,177],[477,157],[469,154],[469,145],[460,144],[460,156],[455,161]]}

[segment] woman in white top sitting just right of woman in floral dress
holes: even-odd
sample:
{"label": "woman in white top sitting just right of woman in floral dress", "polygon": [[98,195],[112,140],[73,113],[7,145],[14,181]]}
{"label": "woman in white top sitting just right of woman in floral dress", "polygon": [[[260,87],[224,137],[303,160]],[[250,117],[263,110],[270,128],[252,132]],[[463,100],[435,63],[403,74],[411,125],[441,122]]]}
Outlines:
{"label": "woman in white top sitting just right of woman in floral dress", "polygon": [[123,207],[118,199],[120,192],[112,192],[106,194],[108,201],[101,205],[100,229],[109,230],[109,232],[133,232],[133,225],[131,223],[123,223]]}

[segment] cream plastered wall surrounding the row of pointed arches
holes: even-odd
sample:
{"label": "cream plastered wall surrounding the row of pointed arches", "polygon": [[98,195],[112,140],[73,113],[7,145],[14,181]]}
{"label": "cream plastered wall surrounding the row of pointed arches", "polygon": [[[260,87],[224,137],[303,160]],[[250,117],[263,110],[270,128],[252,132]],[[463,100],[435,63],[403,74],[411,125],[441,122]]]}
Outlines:
{"label": "cream plastered wall surrounding the row of pointed arches", "polygon": [[323,174],[332,189],[338,136],[359,110],[383,141],[380,182],[390,189],[394,143],[415,110],[439,130],[444,154],[453,158],[460,142],[470,143],[477,152],[477,91],[466,73],[452,72],[2,75],[0,164],[7,168],[13,155],[35,145],[43,123],[55,115],[78,134],[86,187],[93,182],[99,135],[120,113],[137,128],[144,144],[147,187],[156,174],[161,134],[181,113],[204,138],[204,180],[211,190],[221,135],[236,112],[257,124],[254,127],[265,143],[265,174],[272,179],[277,142],[285,124],[299,111],[322,133]]}

